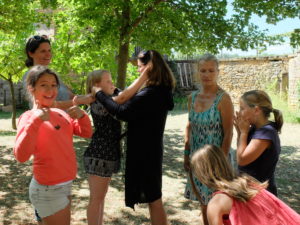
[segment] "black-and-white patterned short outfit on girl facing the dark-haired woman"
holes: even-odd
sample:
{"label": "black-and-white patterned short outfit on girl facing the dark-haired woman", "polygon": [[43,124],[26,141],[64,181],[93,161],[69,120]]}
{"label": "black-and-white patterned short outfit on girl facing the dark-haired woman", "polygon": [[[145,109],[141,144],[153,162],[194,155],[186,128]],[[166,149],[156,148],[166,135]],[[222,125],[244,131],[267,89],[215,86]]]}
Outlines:
{"label": "black-and-white patterned short outfit on girl facing the dark-haired woman", "polygon": [[111,177],[120,169],[121,124],[96,100],[91,104],[95,131],[83,161],[86,173]]}

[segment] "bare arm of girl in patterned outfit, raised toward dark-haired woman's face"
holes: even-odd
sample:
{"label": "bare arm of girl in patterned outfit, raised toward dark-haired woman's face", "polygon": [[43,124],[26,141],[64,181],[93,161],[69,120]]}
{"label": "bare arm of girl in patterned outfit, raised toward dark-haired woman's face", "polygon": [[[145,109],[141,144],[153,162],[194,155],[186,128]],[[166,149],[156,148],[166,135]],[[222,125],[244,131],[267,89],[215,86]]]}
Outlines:
{"label": "bare arm of girl in patterned outfit, raised toward dark-haired woman's face", "polygon": [[118,96],[113,97],[113,100],[118,104],[123,104],[128,101],[148,79],[147,71],[148,68],[146,68],[128,88],[122,91]]}

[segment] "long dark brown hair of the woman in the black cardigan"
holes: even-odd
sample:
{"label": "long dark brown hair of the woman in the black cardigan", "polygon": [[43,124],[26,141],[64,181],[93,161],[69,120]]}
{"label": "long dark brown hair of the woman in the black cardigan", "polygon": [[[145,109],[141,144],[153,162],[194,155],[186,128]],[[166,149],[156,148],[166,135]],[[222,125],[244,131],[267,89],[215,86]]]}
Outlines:
{"label": "long dark brown hair of the woman in the black cardigan", "polygon": [[138,60],[144,65],[149,62],[153,64],[152,69],[148,72],[147,86],[165,85],[172,89],[175,88],[173,73],[159,52],[155,50],[142,51],[138,55]]}

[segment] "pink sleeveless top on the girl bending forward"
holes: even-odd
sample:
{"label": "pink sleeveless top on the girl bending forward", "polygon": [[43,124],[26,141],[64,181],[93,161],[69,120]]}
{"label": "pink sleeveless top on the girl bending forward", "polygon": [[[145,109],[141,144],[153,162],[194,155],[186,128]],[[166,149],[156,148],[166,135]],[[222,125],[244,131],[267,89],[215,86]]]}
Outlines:
{"label": "pink sleeveless top on the girl bending forward", "polygon": [[300,225],[300,215],[265,189],[248,202],[232,200],[232,225]]}

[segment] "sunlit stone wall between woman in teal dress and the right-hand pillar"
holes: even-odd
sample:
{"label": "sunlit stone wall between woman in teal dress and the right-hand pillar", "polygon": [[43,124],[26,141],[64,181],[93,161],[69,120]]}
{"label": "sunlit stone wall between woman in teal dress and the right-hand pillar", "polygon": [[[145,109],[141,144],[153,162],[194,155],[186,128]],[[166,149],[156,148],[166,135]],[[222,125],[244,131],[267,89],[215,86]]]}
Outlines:
{"label": "sunlit stone wall between woman in teal dress and the right-hand pillar", "polygon": [[220,60],[218,82],[235,104],[245,91],[253,89],[273,88],[284,94],[288,85],[288,63],[289,57]]}

